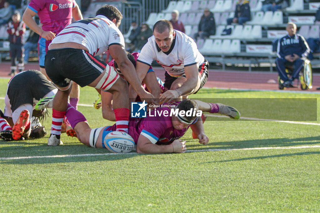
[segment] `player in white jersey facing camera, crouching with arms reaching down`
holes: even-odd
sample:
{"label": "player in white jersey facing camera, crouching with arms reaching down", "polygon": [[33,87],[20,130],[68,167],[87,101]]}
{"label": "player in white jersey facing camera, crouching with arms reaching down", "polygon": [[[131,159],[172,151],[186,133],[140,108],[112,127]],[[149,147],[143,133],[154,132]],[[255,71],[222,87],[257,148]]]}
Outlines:
{"label": "player in white jersey facing camera, crouching with arms reaching down", "polygon": [[[153,60],[166,71],[164,87],[168,91],[163,94],[157,86],[145,82],[148,88],[152,88],[151,93],[156,98],[160,97],[159,103],[195,94],[207,81],[208,61],[198,51],[193,39],[173,30],[170,21],[159,20],[153,26],[153,36],[148,39],[137,60],[140,81],[146,76]],[[129,90],[130,98],[135,97],[134,91]]]}

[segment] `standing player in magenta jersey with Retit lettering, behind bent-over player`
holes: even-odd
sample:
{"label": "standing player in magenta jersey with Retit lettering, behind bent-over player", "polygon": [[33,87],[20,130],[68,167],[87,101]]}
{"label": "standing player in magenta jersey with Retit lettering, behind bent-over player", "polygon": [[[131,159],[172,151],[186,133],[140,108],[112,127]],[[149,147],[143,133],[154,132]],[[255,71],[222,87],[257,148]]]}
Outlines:
{"label": "standing player in magenta jersey with Retit lettering, behind bent-over player", "polygon": [[[33,19],[36,14],[42,27],[39,27]],[[63,28],[71,24],[72,18],[76,21],[82,19],[81,11],[75,0],[31,0],[23,13],[22,20],[30,29],[40,35],[38,41],[39,65],[40,71],[47,78],[44,57],[47,54],[49,44]],[[70,92],[70,104],[75,108],[78,106],[79,95],[79,85],[74,83]]]}

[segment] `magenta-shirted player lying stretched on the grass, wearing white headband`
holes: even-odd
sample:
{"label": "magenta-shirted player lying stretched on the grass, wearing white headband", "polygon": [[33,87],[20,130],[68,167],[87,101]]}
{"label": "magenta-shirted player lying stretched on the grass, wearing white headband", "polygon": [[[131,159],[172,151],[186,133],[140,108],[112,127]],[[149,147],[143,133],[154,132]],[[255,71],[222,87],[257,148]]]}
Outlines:
{"label": "magenta-shirted player lying stretched on the grass, wearing white headband", "polygon": [[[223,104],[205,103],[199,100],[185,99],[181,102],[166,104],[170,107],[159,107],[155,110],[154,117],[147,115],[146,118],[130,118],[129,134],[137,145],[138,153],[182,153],[186,151],[186,141],[181,138],[193,125],[193,130],[198,135],[199,143],[206,145],[209,138],[204,134],[201,117],[191,114],[190,116],[164,116],[164,111],[178,109],[188,111],[190,109],[202,110],[210,113],[223,113],[231,118],[239,119],[240,113],[231,106]],[[152,111],[153,112],[153,111]],[[91,129],[84,115],[68,105],[66,116],[72,128],[76,131],[78,139],[86,146],[106,148],[103,139],[109,132],[116,130],[116,124]],[[95,137],[97,136],[98,137]]]}

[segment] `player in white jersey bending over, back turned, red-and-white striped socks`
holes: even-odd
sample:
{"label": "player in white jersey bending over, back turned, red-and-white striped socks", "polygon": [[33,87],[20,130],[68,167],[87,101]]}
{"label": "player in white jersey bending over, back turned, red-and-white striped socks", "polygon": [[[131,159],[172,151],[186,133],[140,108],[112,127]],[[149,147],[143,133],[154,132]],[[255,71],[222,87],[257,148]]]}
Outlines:
{"label": "player in white jersey bending over, back turned, red-and-white striped socks", "polygon": [[126,56],[124,37],[118,29],[121,19],[122,14],[116,7],[104,5],[97,11],[96,17],[68,25],[49,45],[44,65],[47,75],[59,89],[53,99],[49,146],[61,144],[61,125],[72,86],[70,80],[81,87],[91,86],[111,92],[114,96],[116,130],[128,131],[129,95],[125,92],[128,91],[128,84],[119,78],[113,67],[94,57],[107,50],[140,97],[154,102],[153,95],[141,87],[135,68]]}

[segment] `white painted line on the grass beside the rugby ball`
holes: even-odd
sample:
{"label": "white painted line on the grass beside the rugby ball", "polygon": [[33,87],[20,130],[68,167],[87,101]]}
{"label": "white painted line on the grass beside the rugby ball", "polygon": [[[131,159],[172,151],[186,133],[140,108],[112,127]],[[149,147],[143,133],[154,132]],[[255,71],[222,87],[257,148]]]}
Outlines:
{"label": "white painted line on the grass beside the rugby ball", "polygon": [[[320,146],[288,146],[288,147],[255,147],[255,148],[241,148],[241,149],[201,149],[201,150],[187,150],[186,152],[217,152],[217,151],[238,151],[238,150],[264,150],[264,149],[308,149],[308,148],[320,148]],[[86,156],[105,156],[114,155],[120,153],[101,153],[101,154],[65,154],[65,155],[45,155],[45,156],[23,156],[23,157],[9,157],[0,158],[0,160],[20,160],[20,159],[32,159],[32,158],[65,158],[65,157],[86,157]],[[138,154],[122,153],[122,154]]]}

